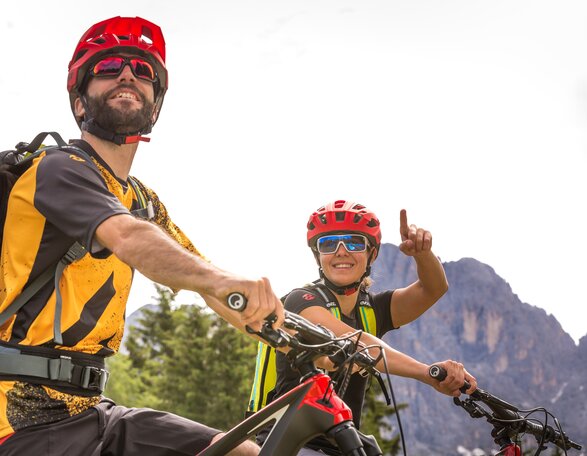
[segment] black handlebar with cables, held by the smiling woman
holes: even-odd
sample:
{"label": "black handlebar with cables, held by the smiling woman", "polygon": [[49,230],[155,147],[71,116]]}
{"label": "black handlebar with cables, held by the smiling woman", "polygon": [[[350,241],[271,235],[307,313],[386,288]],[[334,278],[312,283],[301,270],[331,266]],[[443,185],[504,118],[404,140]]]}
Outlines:
{"label": "black handlebar with cables, held by the smiling woman", "polygon": [[[438,381],[443,381],[447,376],[446,369],[437,364],[430,366],[428,374],[430,377],[435,378]],[[469,388],[470,385],[465,381],[465,385],[463,385],[460,390],[464,393]],[[475,401],[487,405],[492,413],[476,404]],[[481,388],[477,388],[473,391],[469,395],[469,398],[464,401],[459,398],[454,398],[454,403],[459,407],[464,408],[472,418],[485,417],[487,421],[493,424],[495,433],[492,433],[492,435],[495,434],[494,437],[496,437],[496,442],[503,437],[509,438],[518,433],[528,433],[533,435],[540,443],[552,442],[563,450],[571,448],[581,450],[582,448],[581,445],[570,440],[566,434],[562,432],[556,418],[554,418],[554,421],[557,424],[558,430],[541,422],[537,422],[536,419],[528,418],[531,411],[528,411],[525,416],[521,415],[524,411],[520,410],[515,405],[482,390]]]}

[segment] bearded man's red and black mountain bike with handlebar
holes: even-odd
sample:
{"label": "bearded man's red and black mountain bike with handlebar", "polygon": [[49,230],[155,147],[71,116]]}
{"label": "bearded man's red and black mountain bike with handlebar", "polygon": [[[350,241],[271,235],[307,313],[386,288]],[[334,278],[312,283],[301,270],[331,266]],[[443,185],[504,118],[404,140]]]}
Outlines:
{"label": "bearded man's red and black mountain bike with handlebar", "polygon": [[[233,310],[242,311],[246,298],[233,293],[228,304]],[[345,456],[382,456],[375,438],[355,428],[351,409],[340,399],[354,367],[373,375],[382,386],[387,402],[391,403],[382,376],[375,369],[380,357],[373,358],[367,352],[372,347],[355,342],[361,331],[335,337],[328,329],[288,311],[285,311],[283,327],[295,333],[273,329],[273,321],[270,318],[254,333],[273,347],[289,347],[287,357],[302,374],[302,381],[228,431],[198,456],[224,456],[269,424],[273,427],[261,448],[261,456],[296,455],[306,442],[320,435],[335,444]],[[247,330],[253,332],[250,328]],[[315,360],[322,356],[328,356],[342,375],[338,393],[334,390],[333,379],[315,366]]]}

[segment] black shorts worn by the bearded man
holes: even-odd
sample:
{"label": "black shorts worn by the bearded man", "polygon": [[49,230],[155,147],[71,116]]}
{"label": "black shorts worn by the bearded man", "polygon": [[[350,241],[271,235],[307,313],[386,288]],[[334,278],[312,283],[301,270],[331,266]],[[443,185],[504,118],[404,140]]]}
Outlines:
{"label": "black shorts worn by the bearded man", "polygon": [[0,445],[0,454],[194,456],[218,433],[172,413],[126,408],[104,399],[79,415],[16,432]]}

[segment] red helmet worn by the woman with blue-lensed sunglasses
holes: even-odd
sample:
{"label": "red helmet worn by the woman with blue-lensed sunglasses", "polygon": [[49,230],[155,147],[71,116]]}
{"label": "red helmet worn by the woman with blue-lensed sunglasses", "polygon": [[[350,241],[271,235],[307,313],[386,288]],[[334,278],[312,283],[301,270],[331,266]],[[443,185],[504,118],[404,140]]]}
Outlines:
{"label": "red helmet worn by the woman with blue-lensed sunglasses", "polygon": [[362,204],[338,200],[316,210],[308,220],[308,245],[316,247],[320,236],[340,232],[361,233],[379,250],[381,228],[373,212]]}

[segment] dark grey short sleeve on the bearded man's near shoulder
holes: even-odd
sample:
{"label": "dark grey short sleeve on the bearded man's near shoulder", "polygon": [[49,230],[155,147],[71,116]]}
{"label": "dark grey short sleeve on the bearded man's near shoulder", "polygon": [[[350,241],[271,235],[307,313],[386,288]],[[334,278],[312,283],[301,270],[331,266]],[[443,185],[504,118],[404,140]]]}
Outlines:
{"label": "dark grey short sleeve on the bearded man's near shoulder", "polygon": [[40,159],[34,205],[49,223],[88,250],[100,223],[129,213],[92,163],[61,151],[48,151]]}

